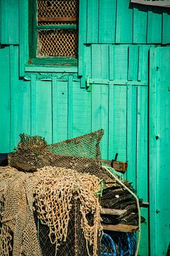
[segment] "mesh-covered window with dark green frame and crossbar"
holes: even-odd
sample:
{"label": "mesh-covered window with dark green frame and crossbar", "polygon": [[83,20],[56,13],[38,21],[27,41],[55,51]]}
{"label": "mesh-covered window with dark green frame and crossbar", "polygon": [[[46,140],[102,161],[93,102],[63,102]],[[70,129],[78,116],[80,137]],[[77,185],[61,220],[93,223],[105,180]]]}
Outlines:
{"label": "mesh-covered window with dark green frame and crossbar", "polygon": [[32,0],[30,58],[77,58],[78,0]]}

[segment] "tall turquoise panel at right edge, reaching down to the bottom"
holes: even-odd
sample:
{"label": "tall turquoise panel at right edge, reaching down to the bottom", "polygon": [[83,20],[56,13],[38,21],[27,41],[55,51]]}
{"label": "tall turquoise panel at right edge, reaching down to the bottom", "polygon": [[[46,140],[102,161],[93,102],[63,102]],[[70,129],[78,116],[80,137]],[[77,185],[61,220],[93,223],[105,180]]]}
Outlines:
{"label": "tall turquoise panel at right edge, reaching down to the bottom", "polygon": [[169,230],[170,48],[152,49],[149,81],[149,201],[151,255],[166,255]]}

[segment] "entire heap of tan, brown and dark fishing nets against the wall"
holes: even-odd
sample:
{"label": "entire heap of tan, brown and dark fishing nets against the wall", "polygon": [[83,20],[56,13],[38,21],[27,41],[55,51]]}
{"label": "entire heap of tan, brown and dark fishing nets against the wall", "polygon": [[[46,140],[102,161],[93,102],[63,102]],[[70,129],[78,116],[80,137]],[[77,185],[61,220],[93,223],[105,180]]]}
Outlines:
{"label": "entire heap of tan, brown and dark fishing nets against the wall", "polygon": [[100,256],[102,224],[137,225],[134,198],[102,166],[102,136],[47,145],[21,134],[0,167],[0,256]]}

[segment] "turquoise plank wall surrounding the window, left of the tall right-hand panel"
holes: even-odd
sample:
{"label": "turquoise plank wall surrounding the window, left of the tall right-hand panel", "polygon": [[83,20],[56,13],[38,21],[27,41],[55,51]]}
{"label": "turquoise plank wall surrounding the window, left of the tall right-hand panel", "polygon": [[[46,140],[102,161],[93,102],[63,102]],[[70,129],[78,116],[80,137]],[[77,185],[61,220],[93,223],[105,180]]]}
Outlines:
{"label": "turquoise plank wall surrounding the window, left of the tall right-hand panel", "polygon": [[[0,0],[0,7],[0,152],[13,151],[23,132],[53,143],[103,128],[103,159],[118,152],[118,160],[128,161],[125,178],[140,198],[152,201],[149,52],[170,43],[168,9],[80,0],[78,66],[56,67],[28,64],[28,0]],[[155,256],[159,242],[152,235],[149,241],[146,208],[142,215],[140,256],[149,255],[149,242]],[[164,232],[160,224],[158,237]]]}

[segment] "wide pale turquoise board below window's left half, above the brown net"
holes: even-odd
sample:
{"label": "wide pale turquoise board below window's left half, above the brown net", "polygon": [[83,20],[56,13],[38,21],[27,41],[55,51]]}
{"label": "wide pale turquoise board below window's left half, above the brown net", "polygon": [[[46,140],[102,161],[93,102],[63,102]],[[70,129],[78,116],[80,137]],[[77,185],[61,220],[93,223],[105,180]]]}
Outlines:
{"label": "wide pale turquoise board below window's left half, above the brown net", "polygon": [[[36,82],[36,133],[52,143],[52,82]],[[35,118],[35,117],[34,117]]]}

